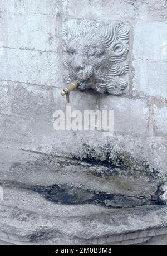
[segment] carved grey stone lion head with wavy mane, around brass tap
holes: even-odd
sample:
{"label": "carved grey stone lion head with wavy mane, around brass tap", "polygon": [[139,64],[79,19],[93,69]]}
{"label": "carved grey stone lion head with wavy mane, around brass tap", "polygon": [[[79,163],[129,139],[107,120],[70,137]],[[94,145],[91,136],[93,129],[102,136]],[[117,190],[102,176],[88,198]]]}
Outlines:
{"label": "carved grey stone lion head with wavy mane, around brass tap", "polygon": [[66,20],[62,47],[67,84],[78,80],[80,90],[114,95],[126,88],[129,26],[125,23],[111,26],[96,20]]}

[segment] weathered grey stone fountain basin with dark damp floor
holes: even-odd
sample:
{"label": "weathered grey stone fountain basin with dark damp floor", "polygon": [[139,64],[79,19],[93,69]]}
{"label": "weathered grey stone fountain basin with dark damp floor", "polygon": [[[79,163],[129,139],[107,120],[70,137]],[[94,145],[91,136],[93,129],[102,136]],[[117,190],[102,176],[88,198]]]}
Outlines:
{"label": "weathered grey stone fountain basin with dark damp floor", "polygon": [[2,146],[1,152],[0,243],[166,243],[159,175]]}

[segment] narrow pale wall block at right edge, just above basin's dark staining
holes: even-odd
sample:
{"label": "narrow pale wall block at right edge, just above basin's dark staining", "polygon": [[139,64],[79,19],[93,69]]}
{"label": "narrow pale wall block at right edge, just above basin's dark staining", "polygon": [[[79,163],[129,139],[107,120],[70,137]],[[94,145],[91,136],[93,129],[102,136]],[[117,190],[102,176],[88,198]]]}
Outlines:
{"label": "narrow pale wall block at right edge, just above basin's dark staining", "polygon": [[160,136],[167,136],[167,107],[154,108],[155,133]]}

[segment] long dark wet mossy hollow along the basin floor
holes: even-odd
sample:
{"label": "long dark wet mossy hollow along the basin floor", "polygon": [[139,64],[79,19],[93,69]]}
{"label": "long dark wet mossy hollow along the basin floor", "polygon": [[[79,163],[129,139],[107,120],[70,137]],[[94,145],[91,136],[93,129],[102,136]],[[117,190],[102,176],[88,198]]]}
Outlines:
{"label": "long dark wet mossy hollow along the basin floor", "polygon": [[50,186],[28,185],[16,181],[3,181],[7,187],[31,190],[43,196],[46,200],[56,204],[81,205],[94,204],[109,208],[135,207],[144,205],[163,204],[155,200],[157,195],[128,196],[124,194],[110,194],[101,191],[85,189],[84,187],[67,184],[53,184]]}

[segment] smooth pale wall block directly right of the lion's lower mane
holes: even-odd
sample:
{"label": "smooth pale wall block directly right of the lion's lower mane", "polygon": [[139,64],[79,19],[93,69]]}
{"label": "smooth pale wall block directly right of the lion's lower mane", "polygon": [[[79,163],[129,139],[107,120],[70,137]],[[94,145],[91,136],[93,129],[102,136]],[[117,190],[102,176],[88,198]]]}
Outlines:
{"label": "smooth pale wall block directly right of the lion's lower mane", "polygon": [[167,66],[165,62],[135,60],[134,69],[133,94],[135,96],[167,97]]}

